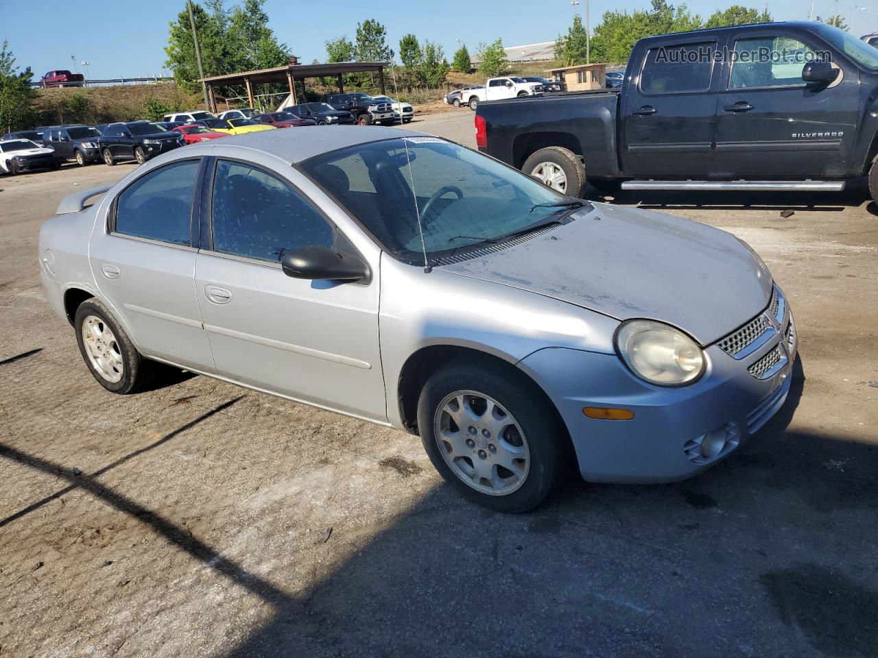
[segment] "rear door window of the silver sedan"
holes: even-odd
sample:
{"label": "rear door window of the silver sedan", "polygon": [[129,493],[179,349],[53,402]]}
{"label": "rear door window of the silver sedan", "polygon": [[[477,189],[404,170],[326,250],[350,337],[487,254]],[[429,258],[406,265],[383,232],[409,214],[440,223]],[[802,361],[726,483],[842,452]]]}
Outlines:
{"label": "rear door window of the silver sedan", "polygon": [[115,231],[190,244],[192,197],[200,161],[175,162],[141,176],[116,200]]}

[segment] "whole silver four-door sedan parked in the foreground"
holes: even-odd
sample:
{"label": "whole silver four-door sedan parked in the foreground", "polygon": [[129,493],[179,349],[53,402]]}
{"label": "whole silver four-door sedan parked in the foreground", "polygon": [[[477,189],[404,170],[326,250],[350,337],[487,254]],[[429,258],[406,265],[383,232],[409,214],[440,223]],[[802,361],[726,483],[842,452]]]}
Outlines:
{"label": "whole silver four-door sedan parked in the foreground", "polygon": [[396,128],[162,154],[64,199],[40,270],[105,389],[160,362],[418,433],[501,511],[572,463],[616,483],[709,468],[778,411],[796,352],[729,233]]}

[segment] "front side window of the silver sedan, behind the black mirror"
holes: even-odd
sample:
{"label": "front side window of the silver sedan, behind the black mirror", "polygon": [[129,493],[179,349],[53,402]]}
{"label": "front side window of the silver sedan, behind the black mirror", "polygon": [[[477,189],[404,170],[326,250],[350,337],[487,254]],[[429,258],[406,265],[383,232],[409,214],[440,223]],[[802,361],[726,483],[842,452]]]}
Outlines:
{"label": "front side window of the silver sedan, behind the black mirror", "polygon": [[212,225],[213,251],[260,261],[335,243],[333,227],[289,183],[241,162],[217,163]]}

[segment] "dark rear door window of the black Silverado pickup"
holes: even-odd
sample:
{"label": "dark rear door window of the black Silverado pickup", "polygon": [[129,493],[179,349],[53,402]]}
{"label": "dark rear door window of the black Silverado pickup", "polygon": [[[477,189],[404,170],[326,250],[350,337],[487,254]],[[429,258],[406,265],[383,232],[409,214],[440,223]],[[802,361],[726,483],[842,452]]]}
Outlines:
{"label": "dark rear door window of the black Silverado pickup", "polygon": [[710,89],[715,41],[650,48],[640,74],[643,94],[683,94]]}

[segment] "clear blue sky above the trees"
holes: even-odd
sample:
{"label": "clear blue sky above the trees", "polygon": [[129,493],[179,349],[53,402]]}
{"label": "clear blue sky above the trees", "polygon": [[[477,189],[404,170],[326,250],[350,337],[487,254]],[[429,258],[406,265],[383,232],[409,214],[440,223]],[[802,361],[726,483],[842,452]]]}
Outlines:
{"label": "clear blue sky above the trees", "polygon": [[[441,44],[450,60],[458,39],[471,54],[480,42],[498,37],[505,46],[555,39],[559,32],[566,32],[574,11],[584,12],[586,2],[581,0],[578,7],[573,7],[570,0],[399,0],[390,4],[268,0],[265,10],[277,37],[307,63],[325,61],[327,39],[345,35],[353,40],[356,24],[366,18],[385,25],[394,53],[399,52],[399,39],[413,32],[421,41],[430,39]],[[690,0],[687,4],[691,11],[707,18],[716,8],[730,4],[762,9],[764,2]],[[858,36],[878,32],[878,0],[814,3],[815,13],[823,18],[840,13],[850,23],[853,15],[853,32]],[[227,4],[235,3],[227,0]],[[591,25],[594,28],[600,22],[604,11],[633,11],[648,6],[649,0],[590,0]],[[775,20],[799,20],[808,18],[810,0],[771,0],[767,6]],[[856,7],[866,9],[855,11]],[[18,66],[30,66],[35,79],[55,68],[76,68],[96,80],[167,75],[162,68],[168,24],[184,8],[185,0],[0,0],[0,40],[9,41]],[[89,62],[87,72],[83,61]]]}

